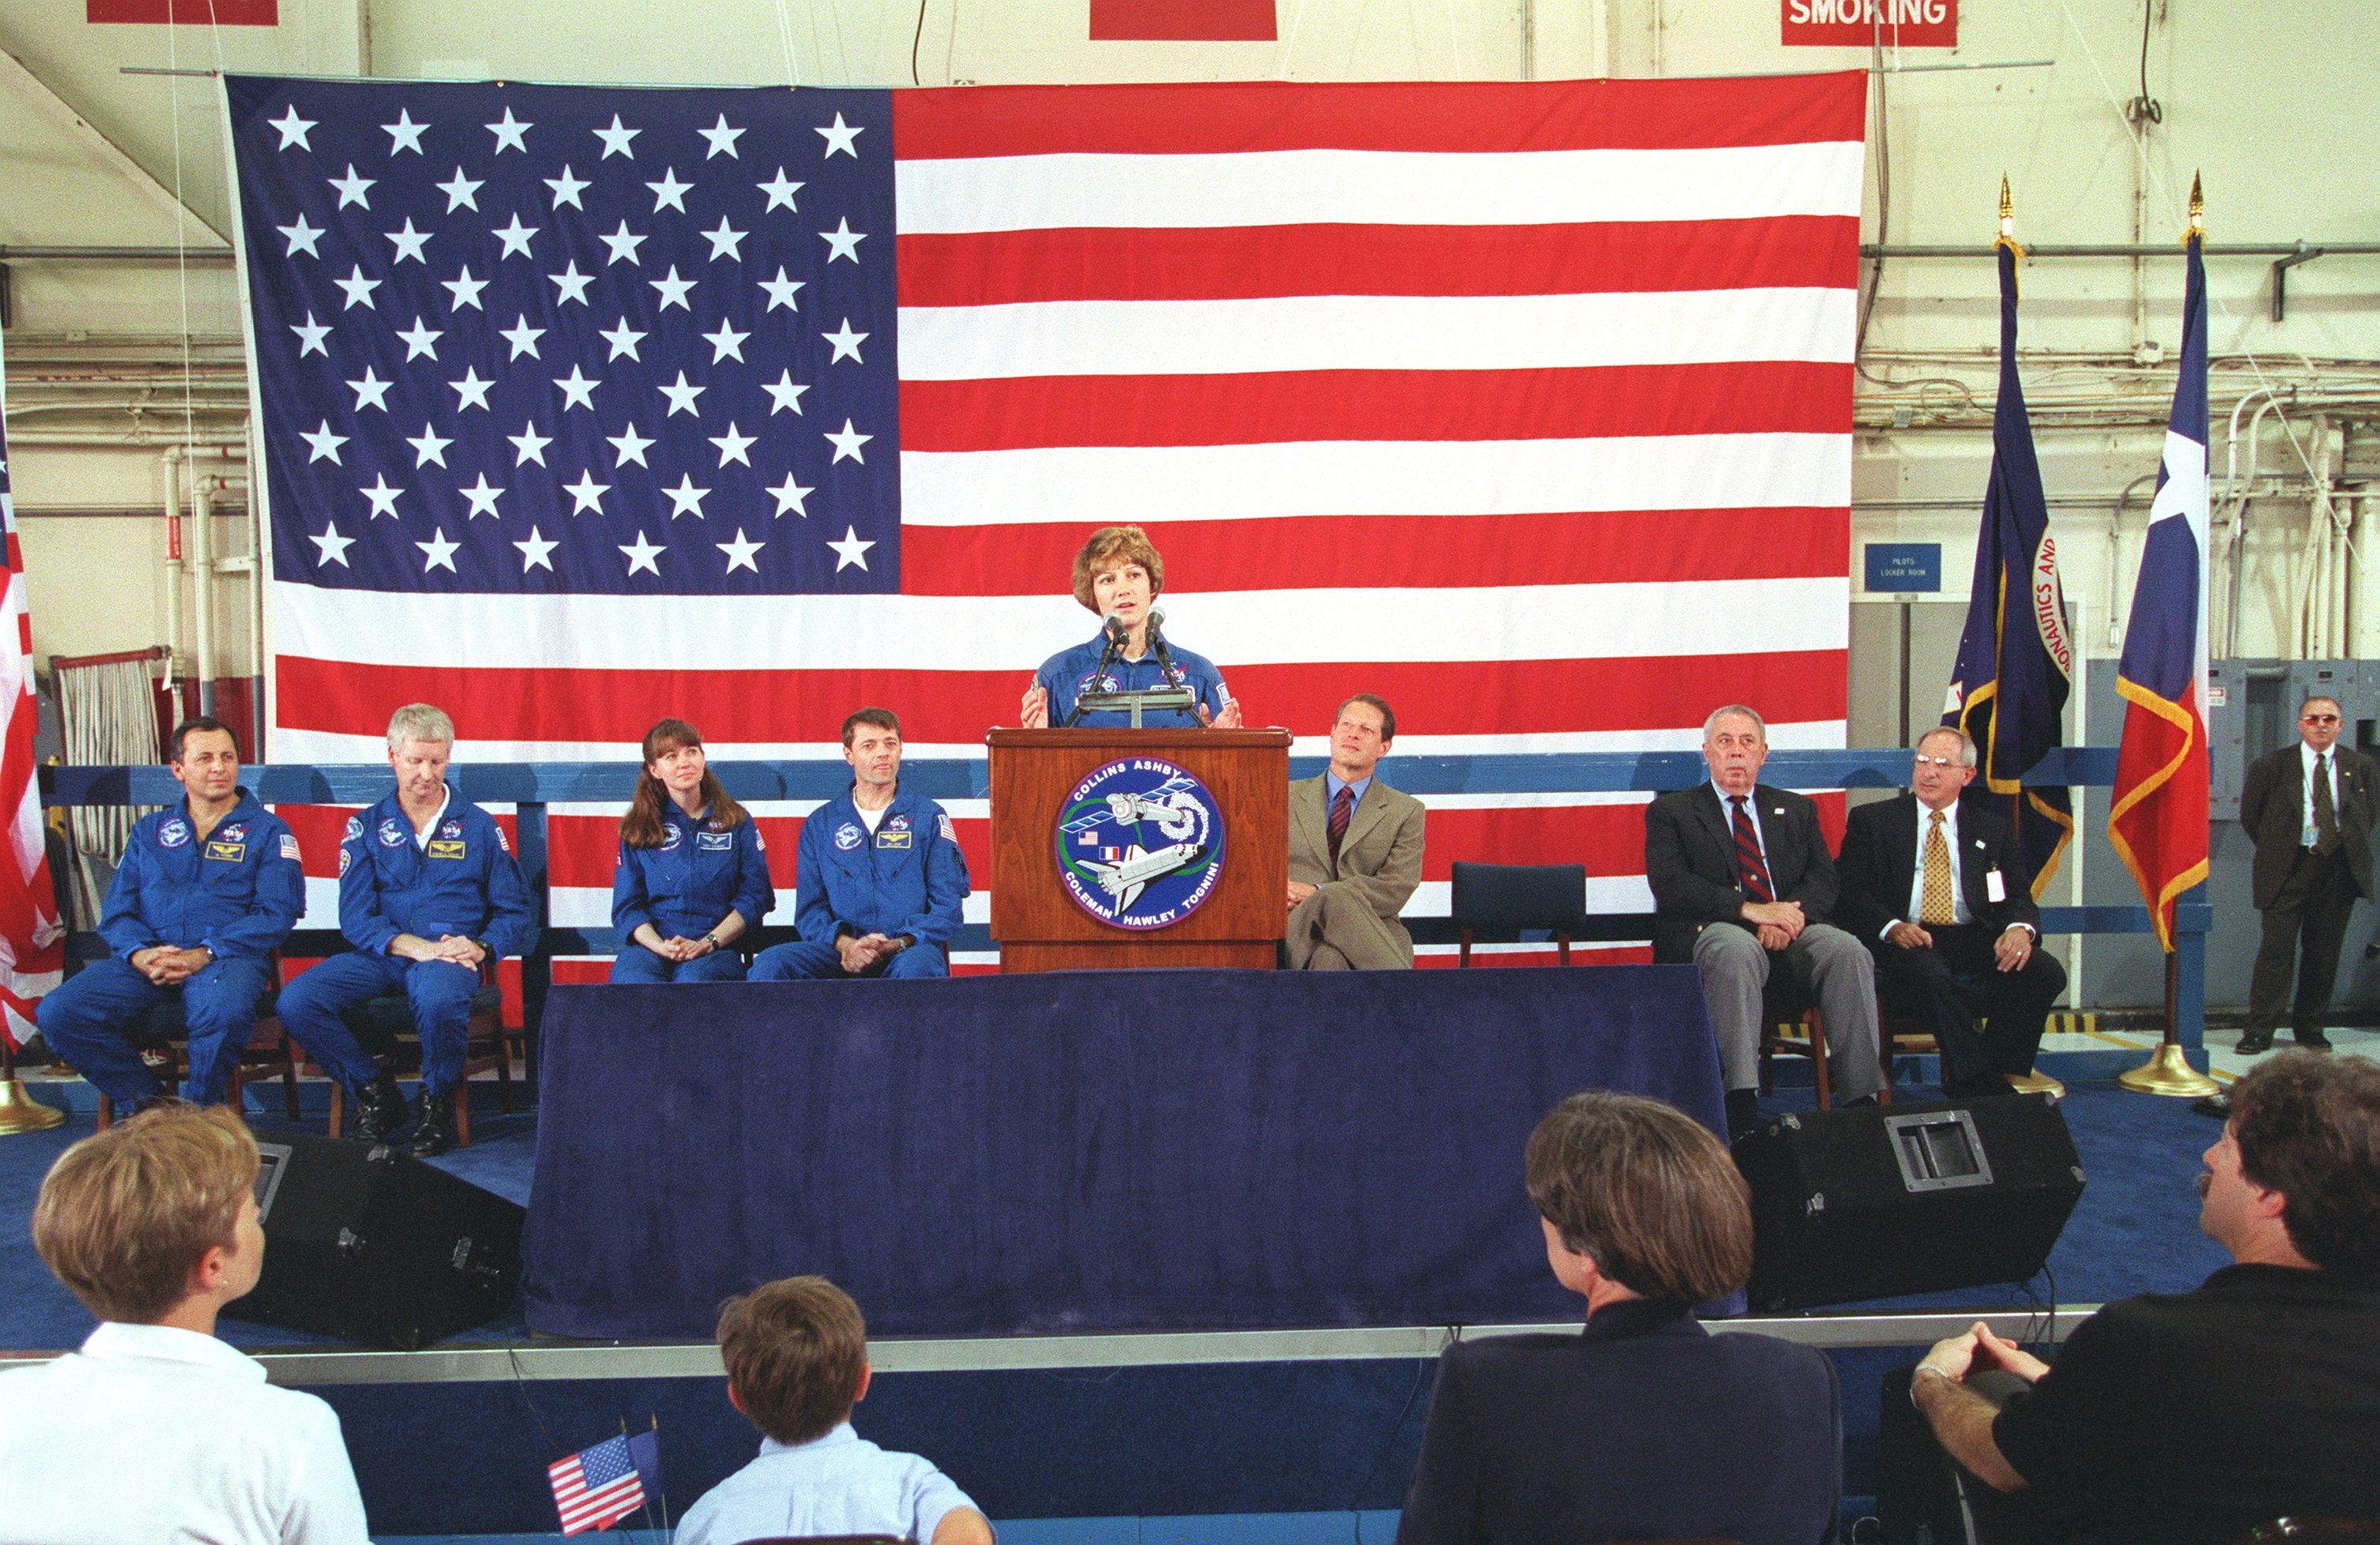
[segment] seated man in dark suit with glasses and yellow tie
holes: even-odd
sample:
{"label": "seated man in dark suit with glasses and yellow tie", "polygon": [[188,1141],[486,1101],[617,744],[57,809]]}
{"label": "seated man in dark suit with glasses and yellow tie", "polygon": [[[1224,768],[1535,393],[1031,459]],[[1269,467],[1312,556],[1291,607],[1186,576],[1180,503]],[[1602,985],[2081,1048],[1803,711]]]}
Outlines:
{"label": "seated man in dark suit with glasses and yellow tie", "polygon": [[2009,1078],[2033,1071],[2042,1021],[2066,990],[2066,967],[2037,947],[2042,912],[2016,831],[1959,805],[1973,778],[1966,731],[1925,733],[1909,793],[1854,809],[1835,864],[1835,921],[1875,955],[1885,1000],[1933,1031],[1942,1093],[1954,1100],[2011,1093]]}

